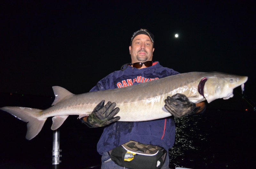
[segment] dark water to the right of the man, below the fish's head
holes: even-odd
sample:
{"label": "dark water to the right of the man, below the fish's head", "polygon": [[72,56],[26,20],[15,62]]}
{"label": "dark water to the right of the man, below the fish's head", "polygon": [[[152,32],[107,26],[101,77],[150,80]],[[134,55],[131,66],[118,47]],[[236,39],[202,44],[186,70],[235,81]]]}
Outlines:
{"label": "dark water to the right of the man, below the fish's head", "polygon": [[170,168],[255,168],[255,113],[206,110],[202,115],[175,119]]}

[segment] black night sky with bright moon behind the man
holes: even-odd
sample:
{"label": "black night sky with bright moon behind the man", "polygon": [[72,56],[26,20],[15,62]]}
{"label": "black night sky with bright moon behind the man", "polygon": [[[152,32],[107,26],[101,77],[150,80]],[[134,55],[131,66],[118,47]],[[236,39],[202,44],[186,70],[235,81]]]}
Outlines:
{"label": "black night sky with bright moon behind the man", "polygon": [[[130,39],[140,28],[154,34],[153,61],[164,67],[180,73],[216,71],[248,76],[246,99],[237,88],[233,98],[218,99],[207,108],[252,110],[255,106],[253,1],[4,0],[0,18],[0,107],[50,107],[52,86],[74,94],[88,92],[100,79],[130,63]],[[174,37],[176,33],[179,38]],[[38,100],[19,98],[14,102],[10,94]],[[17,126],[24,123],[11,122],[16,121]],[[51,120],[48,123],[49,127]],[[77,121],[74,125],[81,126]],[[25,139],[23,126],[14,138]],[[8,132],[3,130],[1,133]]]}

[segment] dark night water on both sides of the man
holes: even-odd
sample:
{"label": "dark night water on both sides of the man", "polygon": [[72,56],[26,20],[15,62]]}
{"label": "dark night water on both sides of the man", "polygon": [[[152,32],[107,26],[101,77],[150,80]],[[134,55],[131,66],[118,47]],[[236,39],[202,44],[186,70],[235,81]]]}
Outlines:
{"label": "dark night water on both sides of the man", "polygon": [[[2,94],[0,107],[26,106],[45,109],[53,98]],[[60,169],[84,169],[100,164],[96,150],[102,128],[88,128],[75,116],[60,127]],[[254,168],[256,112],[207,109],[204,114],[176,121],[176,142],[169,150],[170,168]],[[47,119],[42,131],[26,140],[26,123],[0,111],[0,169],[52,168],[52,125]]]}

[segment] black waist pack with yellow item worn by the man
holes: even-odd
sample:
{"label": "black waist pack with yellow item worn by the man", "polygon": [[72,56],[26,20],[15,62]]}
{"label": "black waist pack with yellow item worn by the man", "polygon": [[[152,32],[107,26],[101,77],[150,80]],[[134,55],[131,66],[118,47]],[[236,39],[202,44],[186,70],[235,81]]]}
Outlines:
{"label": "black waist pack with yellow item worn by the man", "polygon": [[162,147],[135,141],[127,142],[108,153],[117,165],[131,169],[160,169],[167,155]]}

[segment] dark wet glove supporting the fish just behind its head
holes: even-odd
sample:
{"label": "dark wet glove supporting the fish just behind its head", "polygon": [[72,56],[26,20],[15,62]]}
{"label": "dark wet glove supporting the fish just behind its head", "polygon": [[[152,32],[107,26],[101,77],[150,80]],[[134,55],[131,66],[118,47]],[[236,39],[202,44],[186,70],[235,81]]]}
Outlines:
{"label": "dark wet glove supporting the fish just behind its head", "polygon": [[183,94],[175,94],[172,97],[167,96],[164,100],[164,108],[169,111],[174,117],[181,117],[188,114],[195,114],[200,107],[190,102],[188,97]]}

